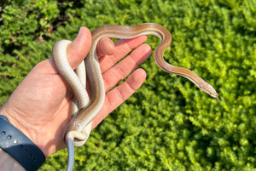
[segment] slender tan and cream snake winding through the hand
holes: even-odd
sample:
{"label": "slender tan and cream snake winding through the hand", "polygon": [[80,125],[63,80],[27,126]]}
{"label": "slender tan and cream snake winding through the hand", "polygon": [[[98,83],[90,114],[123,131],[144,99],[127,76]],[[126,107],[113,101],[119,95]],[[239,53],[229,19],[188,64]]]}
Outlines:
{"label": "slender tan and cream snake winding through the hand", "polygon": [[[67,46],[71,41],[58,41],[52,49],[52,57],[57,71],[72,89],[76,100],[74,105],[77,106],[72,111],[74,114],[67,125],[64,135],[68,151],[67,170],[73,169],[73,146],[84,145],[90,134],[91,122],[101,111],[105,99],[102,72],[96,54],[97,43],[102,37],[131,39],[143,35],[153,35],[160,38],[160,44],[154,50],[154,61],[161,70],[188,78],[202,91],[219,101],[216,90],[195,72],[183,67],[172,66],[165,60],[164,52],[172,43],[172,35],[166,27],[159,24],[143,23],[137,26],[105,25],[97,27],[94,31],[91,31],[92,43],[90,51],[76,71],[73,71],[67,60]],[[90,98],[85,90],[86,74],[90,82]],[[80,77],[77,75],[80,75]],[[82,82],[80,79],[84,79],[84,81]]]}

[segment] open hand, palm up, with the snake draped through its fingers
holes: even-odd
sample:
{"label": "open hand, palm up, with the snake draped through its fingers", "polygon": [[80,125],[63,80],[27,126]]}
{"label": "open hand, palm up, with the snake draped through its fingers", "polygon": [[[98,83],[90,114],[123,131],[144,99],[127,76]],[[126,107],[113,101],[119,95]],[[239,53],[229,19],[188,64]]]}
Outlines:
{"label": "open hand, palm up, with the snake draped through its fingers", "polygon": [[[151,48],[144,43],[146,39],[143,36],[113,43],[109,38],[102,38],[98,43],[97,54],[107,94],[102,110],[92,122],[92,128],[143,84],[146,72],[135,69],[151,54]],[[68,61],[73,69],[88,54],[90,43],[90,31],[81,27],[78,37],[67,48]],[[121,60],[126,54],[125,59]],[[113,88],[130,73],[125,83]],[[63,135],[70,120],[72,98],[73,94],[50,58],[30,71],[3,105],[0,114],[8,117],[10,123],[38,145],[45,157],[49,157],[66,147]]]}

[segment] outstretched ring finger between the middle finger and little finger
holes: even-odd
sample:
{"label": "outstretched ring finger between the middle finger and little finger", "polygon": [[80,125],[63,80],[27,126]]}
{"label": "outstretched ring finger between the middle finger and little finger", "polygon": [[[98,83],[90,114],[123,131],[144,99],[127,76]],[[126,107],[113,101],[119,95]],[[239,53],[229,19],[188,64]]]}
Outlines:
{"label": "outstretched ring finger between the middle finger and little finger", "polygon": [[127,77],[137,66],[147,60],[150,54],[150,46],[148,44],[142,44],[116,66],[113,66],[103,73],[102,77],[106,92]]}

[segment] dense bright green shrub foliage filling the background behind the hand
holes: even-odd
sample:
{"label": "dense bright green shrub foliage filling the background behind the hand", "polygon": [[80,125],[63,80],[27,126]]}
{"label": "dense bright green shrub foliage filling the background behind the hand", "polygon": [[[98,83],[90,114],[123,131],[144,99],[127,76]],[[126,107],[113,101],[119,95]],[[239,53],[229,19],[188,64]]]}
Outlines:
{"label": "dense bright green shrub foliage filling the background behind the hand", "polygon": [[[0,3],[0,104],[60,39],[80,26],[155,22],[165,58],[195,71],[220,103],[150,57],[143,87],[76,149],[74,170],[256,170],[255,0],[26,0]],[[154,49],[160,41],[148,37]],[[63,170],[67,150],[40,170]]]}

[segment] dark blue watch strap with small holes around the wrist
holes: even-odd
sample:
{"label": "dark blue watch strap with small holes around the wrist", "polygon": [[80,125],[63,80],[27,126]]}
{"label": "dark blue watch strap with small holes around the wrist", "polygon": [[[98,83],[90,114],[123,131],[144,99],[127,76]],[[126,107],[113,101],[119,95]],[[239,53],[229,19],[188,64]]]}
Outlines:
{"label": "dark blue watch strap with small holes around the wrist", "polygon": [[32,140],[0,115],[0,148],[14,157],[27,171],[38,170],[44,163],[44,153]]}

